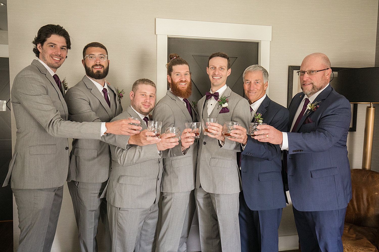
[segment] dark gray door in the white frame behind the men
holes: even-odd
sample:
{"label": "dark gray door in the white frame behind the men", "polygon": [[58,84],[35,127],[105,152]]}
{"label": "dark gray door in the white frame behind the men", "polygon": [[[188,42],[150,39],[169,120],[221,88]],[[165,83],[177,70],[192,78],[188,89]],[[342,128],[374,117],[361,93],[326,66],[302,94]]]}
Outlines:
{"label": "dark gray door in the white frame behind the men", "polygon": [[242,74],[247,66],[258,64],[258,42],[168,38],[167,44],[167,59],[171,53],[176,53],[189,64],[193,85],[188,100],[198,101],[211,89],[207,74],[208,57],[216,52],[228,54],[232,73],[226,84],[245,97]]}

